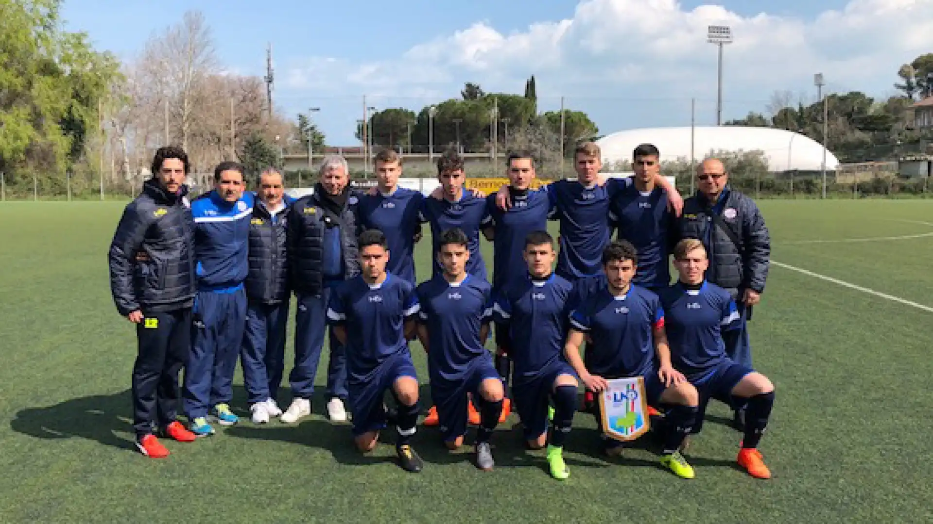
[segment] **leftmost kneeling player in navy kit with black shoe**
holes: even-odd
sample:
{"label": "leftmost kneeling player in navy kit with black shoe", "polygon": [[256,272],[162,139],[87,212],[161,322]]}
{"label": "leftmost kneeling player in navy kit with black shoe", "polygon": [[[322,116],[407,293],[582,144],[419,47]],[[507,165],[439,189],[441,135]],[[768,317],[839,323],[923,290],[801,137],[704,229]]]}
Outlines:
{"label": "leftmost kneeling player in navy kit with black shoe", "polygon": [[408,340],[415,331],[418,297],[411,283],[385,271],[389,251],[381,231],[369,229],[359,236],[359,257],[362,274],[343,283],[327,308],[334,336],[346,345],[356,448],[365,453],[376,447],[385,427],[383,396],[391,391],[398,405],[398,460],[417,473],[423,462],[410,442],[418,421],[418,379]]}

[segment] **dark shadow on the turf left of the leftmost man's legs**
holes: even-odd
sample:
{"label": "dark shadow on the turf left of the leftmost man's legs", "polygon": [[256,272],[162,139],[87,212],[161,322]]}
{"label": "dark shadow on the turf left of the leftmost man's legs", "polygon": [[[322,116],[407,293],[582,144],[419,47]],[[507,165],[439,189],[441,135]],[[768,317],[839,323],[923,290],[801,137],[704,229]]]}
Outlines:
{"label": "dark shadow on the turf left of the leftmost man's legs", "polygon": [[[120,393],[73,398],[49,407],[17,412],[10,428],[35,438],[86,438],[120,449],[133,449],[132,396]],[[125,434],[125,436],[120,436]]]}

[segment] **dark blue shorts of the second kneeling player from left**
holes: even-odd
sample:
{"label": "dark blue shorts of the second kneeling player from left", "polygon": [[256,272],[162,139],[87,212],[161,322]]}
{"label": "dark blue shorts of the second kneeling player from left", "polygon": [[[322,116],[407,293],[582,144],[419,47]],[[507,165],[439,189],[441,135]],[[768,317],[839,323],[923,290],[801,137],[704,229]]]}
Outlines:
{"label": "dark blue shorts of the second kneeling player from left", "polygon": [[440,434],[444,442],[453,442],[466,434],[466,393],[479,397],[480,384],[485,379],[501,379],[489,353],[475,359],[460,380],[431,378],[431,400],[438,407]]}

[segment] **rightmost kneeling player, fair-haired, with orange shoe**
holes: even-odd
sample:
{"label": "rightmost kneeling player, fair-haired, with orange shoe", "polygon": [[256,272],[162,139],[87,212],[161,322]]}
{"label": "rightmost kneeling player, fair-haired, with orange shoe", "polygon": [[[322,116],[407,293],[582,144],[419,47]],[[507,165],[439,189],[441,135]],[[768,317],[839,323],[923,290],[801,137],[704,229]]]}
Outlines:
{"label": "rightmost kneeling player, fair-haired, with orange shoe", "polygon": [[726,356],[722,331],[738,321],[739,313],[726,290],[704,280],[708,265],[701,241],[679,241],[674,249],[674,266],[680,282],[661,292],[675,367],[700,392],[700,415],[693,433],[699,432],[710,397],[724,402],[730,396],[747,398],[745,438],[737,461],[748,475],[771,478],[758,445],[774,405],[774,385],[764,375]]}

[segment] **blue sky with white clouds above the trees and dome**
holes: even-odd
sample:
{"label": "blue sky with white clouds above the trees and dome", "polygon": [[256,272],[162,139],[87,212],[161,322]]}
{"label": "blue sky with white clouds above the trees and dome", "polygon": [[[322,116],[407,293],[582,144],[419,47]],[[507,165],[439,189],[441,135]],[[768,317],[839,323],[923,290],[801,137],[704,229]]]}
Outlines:
{"label": "blue sky with white clouds above the trees and dome", "polygon": [[[933,51],[933,0],[279,0],[205,2],[65,0],[70,30],[129,59],[151,35],[201,10],[231,70],[264,73],[272,42],[276,105],[289,115],[320,106],[332,145],[355,145],[362,95],[417,110],[457,96],[466,81],[520,92],[535,74],[543,109],[587,111],[606,133],[715,120],[716,52],[709,23],[729,23],[724,116],[764,111],[771,94],[829,90],[893,94],[902,62]],[[898,7],[899,5],[899,7]],[[907,26],[905,27],[905,24]],[[885,29],[888,31],[886,32]],[[865,34],[888,34],[877,41]]]}

